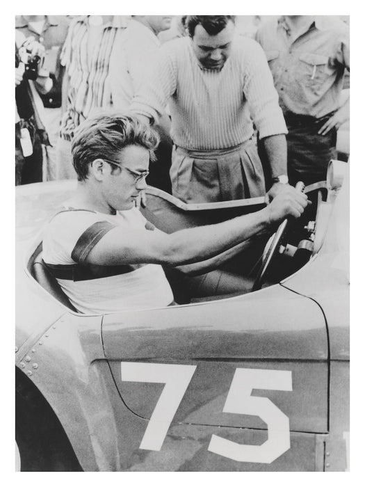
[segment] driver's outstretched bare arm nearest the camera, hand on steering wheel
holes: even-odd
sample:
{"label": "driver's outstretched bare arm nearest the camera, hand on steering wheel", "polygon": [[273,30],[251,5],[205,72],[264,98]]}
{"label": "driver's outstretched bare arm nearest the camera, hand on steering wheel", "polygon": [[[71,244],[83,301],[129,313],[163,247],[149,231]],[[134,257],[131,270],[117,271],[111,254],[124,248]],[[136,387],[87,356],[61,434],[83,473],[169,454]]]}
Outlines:
{"label": "driver's outstretched bare arm nearest the camera, hand on steering wheel", "polygon": [[99,240],[86,262],[99,265],[169,264],[179,266],[209,260],[242,241],[279,223],[287,216],[298,218],[307,196],[288,186],[266,208],[232,220],[188,228],[172,234],[113,228]]}

